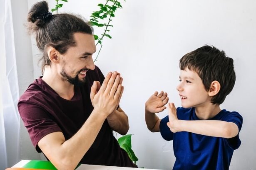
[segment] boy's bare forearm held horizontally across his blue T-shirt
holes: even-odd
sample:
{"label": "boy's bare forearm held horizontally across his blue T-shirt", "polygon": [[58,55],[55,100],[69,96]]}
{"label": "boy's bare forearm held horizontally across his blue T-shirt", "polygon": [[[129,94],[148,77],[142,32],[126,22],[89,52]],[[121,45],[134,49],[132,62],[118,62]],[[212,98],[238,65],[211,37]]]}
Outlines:
{"label": "boy's bare forearm held horizontally across his blue T-shirt", "polygon": [[232,138],[239,132],[236,124],[219,120],[176,120],[174,126],[177,131],[187,131],[206,136]]}

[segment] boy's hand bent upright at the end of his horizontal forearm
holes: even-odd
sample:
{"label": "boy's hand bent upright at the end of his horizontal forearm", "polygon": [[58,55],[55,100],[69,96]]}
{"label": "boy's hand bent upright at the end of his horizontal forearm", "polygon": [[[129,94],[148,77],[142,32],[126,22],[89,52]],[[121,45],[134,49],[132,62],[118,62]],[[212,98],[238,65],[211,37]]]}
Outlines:
{"label": "boy's hand bent upright at the end of his horizontal forearm", "polygon": [[167,104],[168,107],[168,117],[169,117],[169,122],[167,122],[167,126],[170,128],[170,130],[175,133],[178,130],[175,129],[175,121],[178,120],[177,117],[177,111],[176,111],[176,107],[174,105],[174,103],[168,103]]}

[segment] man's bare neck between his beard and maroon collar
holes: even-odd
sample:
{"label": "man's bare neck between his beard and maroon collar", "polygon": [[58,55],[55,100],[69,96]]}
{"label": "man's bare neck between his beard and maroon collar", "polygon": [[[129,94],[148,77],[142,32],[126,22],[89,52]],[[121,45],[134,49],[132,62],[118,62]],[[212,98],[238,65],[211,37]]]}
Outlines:
{"label": "man's bare neck between his beard and maroon collar", "polygon": [[50,67],[45,68],[42,80],[45,81],[60,97],[71,100],[74,96],[74,85],[70,84]]}

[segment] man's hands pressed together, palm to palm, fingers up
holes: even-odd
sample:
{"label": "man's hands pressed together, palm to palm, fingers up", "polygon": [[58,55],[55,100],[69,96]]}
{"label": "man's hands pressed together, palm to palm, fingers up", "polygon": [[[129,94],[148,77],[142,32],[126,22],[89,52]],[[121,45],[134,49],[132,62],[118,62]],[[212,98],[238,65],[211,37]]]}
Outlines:
{"label": "man's hands pressed together, palm to palm, fingers up", "polygon": [[122,97],[124,87],[122,78],[116,71],[109,72],[100,87],[100,83],[94,81],[91,87],[90,98],[94,110],[103,113],[105,117],[111,114],[117,108]]}

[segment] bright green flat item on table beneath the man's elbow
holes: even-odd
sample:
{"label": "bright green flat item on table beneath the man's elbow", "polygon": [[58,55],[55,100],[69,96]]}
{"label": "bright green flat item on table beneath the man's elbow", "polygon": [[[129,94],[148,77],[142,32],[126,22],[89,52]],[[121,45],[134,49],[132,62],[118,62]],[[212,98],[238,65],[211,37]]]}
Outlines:
{"label": "bright green flat item on table beneath the man's elbow", "polygon": [[[78,164],[77,167],[79,167],[79,165],[81,165],[81,164]],[[45,161],[45,160],[31,160],[26,165],[24,165],[22,168],[57,170],[57,168],[55,168],[55,166],[52,165],[52,163],[50,161]]]}

